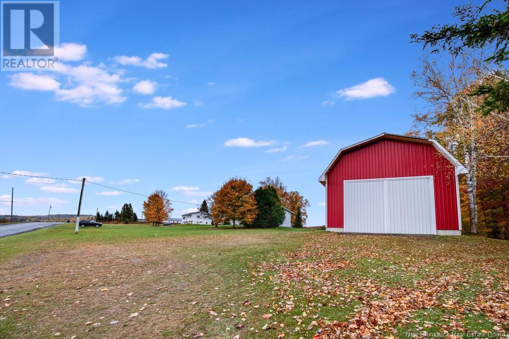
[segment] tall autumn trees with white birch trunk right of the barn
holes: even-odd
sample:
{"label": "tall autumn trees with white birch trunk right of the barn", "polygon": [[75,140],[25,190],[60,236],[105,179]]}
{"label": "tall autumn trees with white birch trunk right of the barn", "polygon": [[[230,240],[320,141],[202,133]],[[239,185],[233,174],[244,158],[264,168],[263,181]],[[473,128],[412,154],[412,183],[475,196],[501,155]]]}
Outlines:
{"label": "tall autumn trees with white birch trunk right of the barn", "polygon": [[[465,165],[462,218],[469,232],[509,239],[509,2],[456,8],[453,24],[411,39],[430,54],[412,78],[430,105],[409,134],[437,139]],[[464,198],[466,196],[466,198]]]}

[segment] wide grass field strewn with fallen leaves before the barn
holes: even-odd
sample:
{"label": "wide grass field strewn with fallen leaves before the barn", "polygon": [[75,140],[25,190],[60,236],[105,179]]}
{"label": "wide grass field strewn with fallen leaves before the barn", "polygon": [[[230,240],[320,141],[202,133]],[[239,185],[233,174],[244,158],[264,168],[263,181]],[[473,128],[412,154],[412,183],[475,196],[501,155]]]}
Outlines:
{"label": "wide grass field strewn with fallen leaves before the barn", "polygon": [[0,337],[509,330],[507,241],[197,225],[74,235],[73,227],[0,239]]}

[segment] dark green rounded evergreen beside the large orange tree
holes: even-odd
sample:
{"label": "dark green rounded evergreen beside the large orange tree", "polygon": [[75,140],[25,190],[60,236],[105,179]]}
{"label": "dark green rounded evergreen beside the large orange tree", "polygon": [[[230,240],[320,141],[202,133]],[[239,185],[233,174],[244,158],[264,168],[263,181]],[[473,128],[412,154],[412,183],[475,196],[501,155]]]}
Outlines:
{"label": "dark green rounded evergreen beside the large orange tree", "polygon": [[252,223],[244,224],[245,227],[277,227],[285,221],[285,210],[274,187],[259,187],[254,191],[254,199],[256,200],[258,213]]}

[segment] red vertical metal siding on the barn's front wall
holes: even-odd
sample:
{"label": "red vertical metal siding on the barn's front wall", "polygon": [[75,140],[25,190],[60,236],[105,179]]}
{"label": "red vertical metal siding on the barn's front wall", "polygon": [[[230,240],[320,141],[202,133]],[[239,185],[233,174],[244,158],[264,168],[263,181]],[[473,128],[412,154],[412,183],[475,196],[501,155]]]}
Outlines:
{"label": "red vertical metal siding on the barn's front wall", "polygon": [[459,230],[454,166],[430,144],[384,139],[342,155],[327,173],[327,227],[343,225],[343,180],[433,175],[437,230]]}

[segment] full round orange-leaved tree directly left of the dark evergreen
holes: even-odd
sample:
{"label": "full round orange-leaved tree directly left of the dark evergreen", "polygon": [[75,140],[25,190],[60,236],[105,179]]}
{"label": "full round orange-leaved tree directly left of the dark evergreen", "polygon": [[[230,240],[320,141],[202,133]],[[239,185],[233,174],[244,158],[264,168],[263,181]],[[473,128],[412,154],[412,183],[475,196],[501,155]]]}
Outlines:
{"label": "full round orange-leaved tree directly left of the dark evergreen", "polygon": [[243,178],[234,177],[223,184],[211,197],[211,217],[214,224],[229,221],[250,224],[257,214],[253,187]]}

